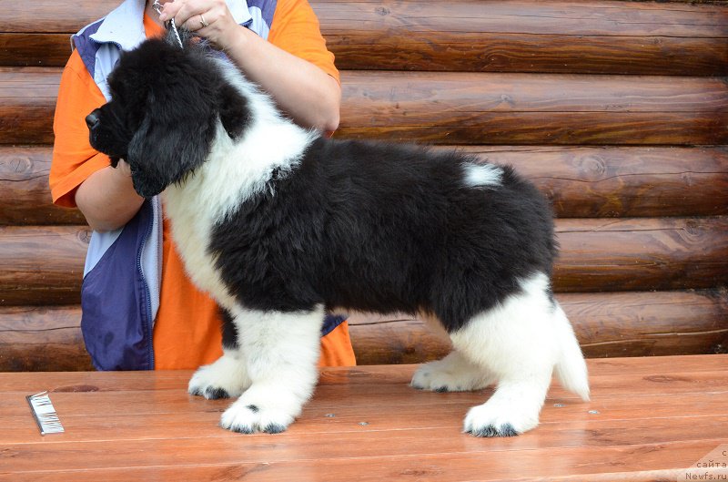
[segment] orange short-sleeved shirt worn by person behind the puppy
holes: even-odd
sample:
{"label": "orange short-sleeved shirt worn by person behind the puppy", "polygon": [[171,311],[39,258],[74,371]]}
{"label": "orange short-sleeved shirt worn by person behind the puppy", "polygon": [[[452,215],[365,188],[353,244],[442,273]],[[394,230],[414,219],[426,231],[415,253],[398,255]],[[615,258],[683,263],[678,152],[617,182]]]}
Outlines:
{"label": "orange short-sleeved shirt worn by person behind the puppy", "polygon": [[[147,15],[144,26],[147,37],[163,32]],[[327,50],[318,19],[306,0],[278,1],[268,41],[339,80],[333,54]],[[105,103],[106,98],[74,51],[61,77],[54,118],[56,142],[49,182],[53,200],[59,206],[76,207],[78,186],[96,170],[109,166],[108,157],[90,146],[84,120]],[[194,369],[214,362],[222,354],[217,303],[187,278],[166,220],[163,240],[160,305],[153,340],[155,367]],[[321,339],[319,364],[356,364],[346,322]]]}

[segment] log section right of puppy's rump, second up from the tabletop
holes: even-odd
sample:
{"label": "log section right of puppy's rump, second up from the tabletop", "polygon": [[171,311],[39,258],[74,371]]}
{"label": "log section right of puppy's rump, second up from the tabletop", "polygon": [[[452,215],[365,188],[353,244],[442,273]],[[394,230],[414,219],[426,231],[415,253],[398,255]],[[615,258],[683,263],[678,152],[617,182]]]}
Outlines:
{"label": "log section right of puppy's rump, second up from the tabletop", "polygon": [[713,288],[728,282],[728,218],[557,220],[557,292]]}

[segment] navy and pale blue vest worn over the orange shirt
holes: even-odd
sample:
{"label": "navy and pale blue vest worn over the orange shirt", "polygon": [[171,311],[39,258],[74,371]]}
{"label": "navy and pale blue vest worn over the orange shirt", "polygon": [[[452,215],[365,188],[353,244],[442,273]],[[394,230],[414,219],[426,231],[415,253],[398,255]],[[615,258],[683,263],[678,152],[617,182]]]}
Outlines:
{"label": "navy and pale blue vest worn over the orange shirt", "polygon": [[[238,24],[268,38],[277,0],[227,0]],[[146,39],[145,0],[126,0],[109,15],[72,36],[89,74],[108,100],[106,79],[122,51]],[[162,207],[146,200],[117,231],[94,232],[81,289],[81,330],[99,370],[152,370],[152,333],[162,277]],[[323,333],[341,323],[329,317]]]}

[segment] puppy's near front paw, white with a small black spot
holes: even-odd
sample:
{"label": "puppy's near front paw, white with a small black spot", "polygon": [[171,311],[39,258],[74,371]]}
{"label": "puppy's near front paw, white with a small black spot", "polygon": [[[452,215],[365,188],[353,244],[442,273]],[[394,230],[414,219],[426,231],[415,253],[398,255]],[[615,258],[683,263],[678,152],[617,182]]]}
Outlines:
{"label": "puppy's near front paw, white with a small black spot", "polygon": [[[248,390],[255,391],[255,386]],[[220,418],[221,427],[241,434],[278,434],[285,431],[300,414],[301,404],[286,403],[273,394],[261,397],[252,393],[248,395],[248,392],[225,411]]]}

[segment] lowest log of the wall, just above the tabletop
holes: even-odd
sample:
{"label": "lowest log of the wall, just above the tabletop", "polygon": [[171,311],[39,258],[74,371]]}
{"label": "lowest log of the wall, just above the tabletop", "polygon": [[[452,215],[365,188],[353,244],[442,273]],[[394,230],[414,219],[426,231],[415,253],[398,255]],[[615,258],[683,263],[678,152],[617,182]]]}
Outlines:
{"label": "lowest log of the wall, just above the tabletop", "polygon": [[[725,292],[562,294],[559,301],[589,357],[725,353]],[[91,368],[78,306],[0,307],[0,372]],[[349,316],[359,364],[440,358],[447,339],[407,316]]]}

